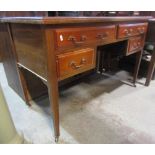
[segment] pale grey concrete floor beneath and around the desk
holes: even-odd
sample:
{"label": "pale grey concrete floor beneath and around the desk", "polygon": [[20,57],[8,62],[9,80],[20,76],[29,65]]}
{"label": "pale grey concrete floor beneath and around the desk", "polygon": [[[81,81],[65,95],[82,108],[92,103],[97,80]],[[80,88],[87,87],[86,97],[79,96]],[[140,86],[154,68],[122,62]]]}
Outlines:
{"label": "pale grey concrete floor beneath and around the desk", "polygon": [[[116,77],[129,75],[92,76],[60,92],[59,143],[155,143],[155,81],[134,88]],[[26,106],[8,86],[2,64],[0,82],[18,132],[32,143],[54,143],[48,99]]]}

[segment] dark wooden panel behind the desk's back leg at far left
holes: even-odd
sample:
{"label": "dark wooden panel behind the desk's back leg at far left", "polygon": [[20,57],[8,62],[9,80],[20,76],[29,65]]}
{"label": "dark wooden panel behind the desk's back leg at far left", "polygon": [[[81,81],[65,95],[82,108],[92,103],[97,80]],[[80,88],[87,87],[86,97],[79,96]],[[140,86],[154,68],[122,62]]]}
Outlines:
{"label": "dark wooden panel behind the desk's back leg at far left", "polygon": [[3,54],[3,66],[9,86],[24,99],[24,94],[20,85],[18,69],[15,56],[13,54],[12,40],[9,36],[7,25],[0,24],[0,51]]}

